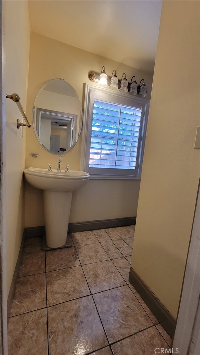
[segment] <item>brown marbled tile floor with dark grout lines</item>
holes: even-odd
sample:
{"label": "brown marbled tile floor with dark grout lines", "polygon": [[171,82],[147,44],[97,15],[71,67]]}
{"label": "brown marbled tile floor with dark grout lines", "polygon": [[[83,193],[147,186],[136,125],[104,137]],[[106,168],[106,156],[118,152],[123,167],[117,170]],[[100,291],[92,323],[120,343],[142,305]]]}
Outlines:
{"label": "brown marbled tile floor with dark grout lines", "polygon": [[171,339],[130,285],[135,226],[71,233],[67,249],[25,240],[9,355],[154,355]]}

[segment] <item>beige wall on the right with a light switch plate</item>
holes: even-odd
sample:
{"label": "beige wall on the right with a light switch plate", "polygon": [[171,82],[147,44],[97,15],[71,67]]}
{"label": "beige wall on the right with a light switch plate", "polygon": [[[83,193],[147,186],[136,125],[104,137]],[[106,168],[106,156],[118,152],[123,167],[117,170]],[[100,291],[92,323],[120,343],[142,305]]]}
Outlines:
{"label": "beige wall on the right with a light switch plate", "polygon": [[199,1],[163,1],[131,263],[174,317],[200,172],[199,16]]}

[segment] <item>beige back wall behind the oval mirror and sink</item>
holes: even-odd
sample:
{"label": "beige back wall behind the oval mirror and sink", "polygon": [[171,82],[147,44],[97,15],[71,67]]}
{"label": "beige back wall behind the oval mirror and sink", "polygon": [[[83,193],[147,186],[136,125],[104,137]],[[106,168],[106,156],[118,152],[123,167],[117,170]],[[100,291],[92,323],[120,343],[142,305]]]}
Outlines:
{"label": "beige back wall behind the oval mirror and sink", "polygon": [[[107,74],[113,69],[120,77],[126,72],[130,81],[133,75],[137,81],[145,78],[150,99],[152,75],[130,66],[103,58],[96,54],[72,47],[42,35],[31,33],[30,61],[28,77],[27,112],[32,116],[34,99],[39,89],[49,80],[63,78],[74,87],[84,102],[84,84],[90,83],[88,72],[100,72],[105,66]],[[108,89],[109,90],[109,89]],[[81,136],[75,147],[62,156],[62,168],[70,165],[70,170],[80,169]],[[32,158],[29,153],[38,153]],[[27,131],[26,167],[45,168],[52,163],[57,168],[58,156],[44,151],[34,134],[33,128]],[[73,192],[70,222],[131,217],[136,215],[140,181],[127,180],[90,180],[86,186]],[[26,184],[26,226],[44,224],[42,191]]]}

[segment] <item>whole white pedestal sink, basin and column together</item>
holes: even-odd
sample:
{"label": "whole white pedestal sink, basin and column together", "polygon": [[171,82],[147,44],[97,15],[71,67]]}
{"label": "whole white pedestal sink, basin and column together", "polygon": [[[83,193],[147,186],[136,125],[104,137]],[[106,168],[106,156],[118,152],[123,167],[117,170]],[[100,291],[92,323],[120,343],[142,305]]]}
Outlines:
{"label": "whole white pedestal sink, basin and column together", "polygon": [[25,178],[33,187],[43,190],[46,244],[59,248],[66,243],[72,191],[86,184],[90,174],[71,170],[48,171],[28,168]]}

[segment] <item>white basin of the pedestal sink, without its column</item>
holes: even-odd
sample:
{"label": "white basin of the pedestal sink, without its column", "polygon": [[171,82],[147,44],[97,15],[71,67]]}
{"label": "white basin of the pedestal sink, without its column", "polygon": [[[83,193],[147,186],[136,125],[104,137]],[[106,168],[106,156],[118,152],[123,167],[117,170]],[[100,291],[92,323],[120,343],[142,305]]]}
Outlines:
{"label": "white basin of the pedestal sink, without its column", "polygon": [[65,192],[79,189],[90,178],[84,171],[48,171],[47,169],[28,168],[24,171],[26,180],[37,189]]}

